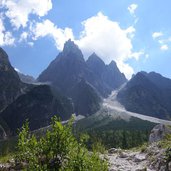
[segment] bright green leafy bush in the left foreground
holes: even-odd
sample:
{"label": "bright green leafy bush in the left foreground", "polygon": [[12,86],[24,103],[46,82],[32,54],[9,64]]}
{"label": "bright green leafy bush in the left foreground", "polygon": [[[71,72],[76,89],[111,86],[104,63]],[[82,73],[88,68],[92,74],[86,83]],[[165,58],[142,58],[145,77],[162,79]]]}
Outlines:
{"label": "bright green leafy bush in the left foreground", "polygon": [[36,138],[29,133],[26,122],[18,140],[19,163],[26,163],[26,170],[51,171],[107,171],[105,160],[93,151],[89,152],[85,146],[87,136],[79,140],[72,133],[73,119],[62,125],[56,118],[52,119],[52,128],[44,137]]}

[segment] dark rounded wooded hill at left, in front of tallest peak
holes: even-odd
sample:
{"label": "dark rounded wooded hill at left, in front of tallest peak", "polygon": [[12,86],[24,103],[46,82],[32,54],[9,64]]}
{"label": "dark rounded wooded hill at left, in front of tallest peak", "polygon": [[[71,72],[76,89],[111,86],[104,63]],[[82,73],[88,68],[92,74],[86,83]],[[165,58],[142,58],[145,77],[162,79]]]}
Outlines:
{"label": "dark rounded wooded hill at left, in front of tallest peak", "polygon": [[62,96],[49,85],[33,86],[30,90],[19,96],[11,103],[0,116],[2,126],[8,134],[15,134],[18,128],[28,119],[30,129],[35,130],[48,126],[51,117],[58,115],[67,120],[73,113],[71,101]]}

